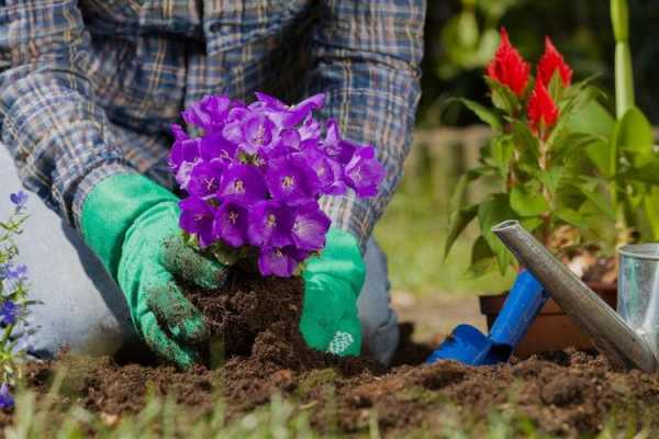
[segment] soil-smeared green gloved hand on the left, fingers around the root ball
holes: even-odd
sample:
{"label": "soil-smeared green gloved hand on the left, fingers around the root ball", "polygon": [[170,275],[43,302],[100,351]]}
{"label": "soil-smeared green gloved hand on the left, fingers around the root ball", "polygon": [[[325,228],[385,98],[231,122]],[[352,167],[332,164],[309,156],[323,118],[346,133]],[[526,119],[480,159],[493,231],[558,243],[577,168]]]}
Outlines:
{"label": "soil-smeared green gloved hand on the left, fingers around the root ball", "polygon": [[137,334],[157,354],[188,368],[197,360],[190,346],[206,339],[208,328],[174,277],[217,289],[227,269],[185,244],[178,201],[146,177],[112,176],[87,195],[81,228],[123,291]]}

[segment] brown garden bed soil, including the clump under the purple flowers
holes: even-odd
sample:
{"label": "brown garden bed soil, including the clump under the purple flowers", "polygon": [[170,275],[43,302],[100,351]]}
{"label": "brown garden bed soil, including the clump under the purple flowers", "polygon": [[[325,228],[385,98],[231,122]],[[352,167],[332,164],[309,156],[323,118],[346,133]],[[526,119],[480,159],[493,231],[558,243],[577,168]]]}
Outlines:
{"label": "brown garden bed soil, including the clump under the purple flowers", "polygon": [[[298,331],[299,281],[236,277],[221,294],[190,291],[189,296],[220,340],[206,351],[210,362],[217,350],[223,353],[217,368],[181,372],[171,365],[63,354],[29,364],[27,384],[44,394],[64,367],[59,402],[109,419],[139,410],[148,394],[174,394],[200,415],[223,395],[227,415],[235,417],[280,392],[309,409],[314,427],[343,434],[367,431],[371,410],[380,431],[392,436],[449,428],[442,425],[448,412],[480,418],[511,407],[543,430],[566,437],[594,434],[619,412],[659,424],[659,416],[651,416],[659,410],[659,375],[616,371],[594,353],[568,350],[498,367],[426,365],[432,349],[414,344],[413,327],[404,324],[394,367],[386,370],[368,358],[340,359],[304,346]],[[10,420],[0,416],[0,424]]]}

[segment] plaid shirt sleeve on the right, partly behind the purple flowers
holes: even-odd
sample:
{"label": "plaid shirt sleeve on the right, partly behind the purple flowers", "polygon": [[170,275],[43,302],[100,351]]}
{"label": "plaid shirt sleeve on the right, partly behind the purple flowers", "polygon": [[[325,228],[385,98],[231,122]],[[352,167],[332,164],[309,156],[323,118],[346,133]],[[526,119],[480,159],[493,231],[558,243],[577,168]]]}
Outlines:
{"label": "plaid shirt sleeve on the right, partly behind the purple flowers", "polygon": [[325,0],[311,36],[310,92],[324,92],[324,117],[343,136],[373,145],[387,170],[377,196],[328,196],[333,224],[361,247],[402,177],[421,94],[425,0]]}

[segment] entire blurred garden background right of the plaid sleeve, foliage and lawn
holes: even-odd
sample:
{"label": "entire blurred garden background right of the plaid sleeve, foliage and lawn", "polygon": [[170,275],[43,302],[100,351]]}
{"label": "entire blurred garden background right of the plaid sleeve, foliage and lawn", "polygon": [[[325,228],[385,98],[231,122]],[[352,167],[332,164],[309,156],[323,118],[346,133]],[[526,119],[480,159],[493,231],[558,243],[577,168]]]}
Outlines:
{"label": "entire blurred garden background right of the plaid sleeve, foliage and lawn", "polygon": [[[415,144],[403,182],[376,227],[376,237],[389,256],[394,291],[500,292],[510,285],[510,275],[467,275],[476,230],[457,243],[447,260],[443,258],[448,198],[459,175],[474,165],[478,150],[478,146],[453,136],[456,130],[472,136],[471,126],[478,121],[463,106],[447,106],[445,102],[462,97],[489,104],[483,68],[496,49],[503,25],[512,43],[533,64],[544,52],[545,35],[549,35],[572,66],[576,80],[597,75],[597,86],[610,97],[604,104],[613,109],[614,40],[608,1],[427,0],[427,5]],[[659,1],[629,0],[629,10],[637,105],[657,125]]]}

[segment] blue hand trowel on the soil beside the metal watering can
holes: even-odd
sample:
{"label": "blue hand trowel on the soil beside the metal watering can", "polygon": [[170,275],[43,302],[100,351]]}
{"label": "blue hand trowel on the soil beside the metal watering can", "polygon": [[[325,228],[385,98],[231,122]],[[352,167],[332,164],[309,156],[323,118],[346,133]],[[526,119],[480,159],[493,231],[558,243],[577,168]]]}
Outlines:
{"label": "blue hand trowel on the soil beside the metal watering can", "polygon": [[470,365],[506,362],[549,295],[528,271],[517,275],[488,336],[471,325],[459,325],[428,358]]}

